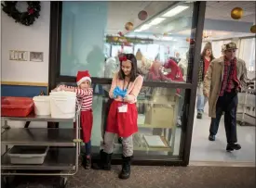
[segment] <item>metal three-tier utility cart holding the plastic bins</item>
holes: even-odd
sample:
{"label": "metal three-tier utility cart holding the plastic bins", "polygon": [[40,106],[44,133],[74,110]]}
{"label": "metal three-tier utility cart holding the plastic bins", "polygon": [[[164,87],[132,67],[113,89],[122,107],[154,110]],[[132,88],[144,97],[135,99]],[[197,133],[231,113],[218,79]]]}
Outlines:
{"label": "metal three-tier utility cart holding the plastic bins", "polygon": [[[26,118],[2,117],[5,121],[2,126],[1,144],[6,145],[6,151],[1,156],[2,183],[5,187],[11,177],[23,176],[57,176],[60,177],[58,187],[65,187],[67,177],[74,175],[78,170],[80,154],[80,110],[74,119],[52,119],[50,116],[30,115]],[[11,129],[7,125],[9,120],[19,121],[46,121],[76,123],[75,129],[59,128],[19,128]],[[14,165],[7,156],[8,145],[38,145],[49,146],[47,157],[42,165]],[[3,180],[4,179],[4,180]],[[3,186],[3,185],[2,185]]]}

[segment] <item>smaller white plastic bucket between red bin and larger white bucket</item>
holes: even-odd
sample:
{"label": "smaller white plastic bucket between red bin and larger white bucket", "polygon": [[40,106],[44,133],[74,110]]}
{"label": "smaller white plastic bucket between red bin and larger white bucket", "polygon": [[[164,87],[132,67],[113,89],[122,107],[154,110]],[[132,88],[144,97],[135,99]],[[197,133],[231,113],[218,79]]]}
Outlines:
{"label": "smaller white plastic bucket between red bin and larger white bucket", "polygon": [[50,115],[49,96],[34,96],[34,113],[38,116]]}

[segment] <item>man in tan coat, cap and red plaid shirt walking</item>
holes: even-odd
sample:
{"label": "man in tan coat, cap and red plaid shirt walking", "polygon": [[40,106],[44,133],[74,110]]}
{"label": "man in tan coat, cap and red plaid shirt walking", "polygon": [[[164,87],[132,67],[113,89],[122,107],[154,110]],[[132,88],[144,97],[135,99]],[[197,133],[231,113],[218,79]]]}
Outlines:
{"label": "man in tan coat, cap and red plaid shirt walking", "polygon": [[204,79],[203,92],[209,98],[209,141],[215,141],[219,121],[224,112],[227,151],[239,150],[236,137],[237,93],[246,87],[247,69],[245,61],[236,57],[236,44],[223,46],[223,56],[210,62]]}

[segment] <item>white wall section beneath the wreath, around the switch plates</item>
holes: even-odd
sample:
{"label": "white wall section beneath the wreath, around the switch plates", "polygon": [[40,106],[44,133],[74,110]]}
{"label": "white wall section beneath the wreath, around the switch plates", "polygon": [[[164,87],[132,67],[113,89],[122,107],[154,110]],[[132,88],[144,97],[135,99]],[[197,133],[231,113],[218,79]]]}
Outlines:
{"label": "white wall section beneath the wreath, around the switch plates", "polygon": [[[2,81],[48,81],[50,2],[41,2],[40,17],[31,26],[16,23],[1,10]],[[44,53],[44,62],[9,60],[9,50]]]}

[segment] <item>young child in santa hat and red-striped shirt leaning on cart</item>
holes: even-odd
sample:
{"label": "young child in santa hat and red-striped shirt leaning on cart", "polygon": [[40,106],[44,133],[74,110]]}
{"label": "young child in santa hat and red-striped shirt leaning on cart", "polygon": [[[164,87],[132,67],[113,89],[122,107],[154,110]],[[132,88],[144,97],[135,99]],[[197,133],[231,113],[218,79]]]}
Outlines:
{"label": "young child in santa hat and red-striped shirt leaning on cart", "polygon": [[[59,88],[63,91],[75,92],[78,104],[81,106],[80,125],[82,128],[82,139],[86,147],[86,157],[83,158],[82,165],[85,169],[90,169],[90,152],[91,152],[91,129],[93,123],[92,116],[92,94],[91,79],[86,71],[78,71],[76,76],[76,87],[61,85]],[[75,126],[75,124],[74,124]]]}

